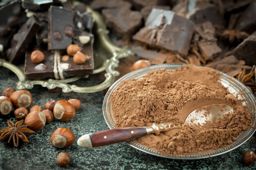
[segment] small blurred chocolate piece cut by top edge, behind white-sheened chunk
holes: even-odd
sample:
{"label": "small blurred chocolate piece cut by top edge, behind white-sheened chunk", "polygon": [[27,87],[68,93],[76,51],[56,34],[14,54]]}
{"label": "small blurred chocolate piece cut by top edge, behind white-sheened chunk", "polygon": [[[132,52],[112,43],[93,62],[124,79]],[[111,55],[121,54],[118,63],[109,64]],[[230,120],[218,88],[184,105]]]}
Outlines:
{"label": "small blurred chocolate piece cut by top edge, behind white-sheened chunk", "polygon": [[129,0],[133,7],[140,11],[142,8],[146,6],[154,6],[154,5],[167,5],[167,0]]}

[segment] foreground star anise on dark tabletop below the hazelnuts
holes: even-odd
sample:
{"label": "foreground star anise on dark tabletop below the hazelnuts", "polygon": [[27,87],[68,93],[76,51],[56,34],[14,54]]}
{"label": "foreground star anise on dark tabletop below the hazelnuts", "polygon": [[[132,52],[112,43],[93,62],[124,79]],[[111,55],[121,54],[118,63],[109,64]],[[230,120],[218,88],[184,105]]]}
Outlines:
{"label": "foreground star anise on dark tabletop below the hazelnuts", "polygon": [[27,128],[26,125],[23,125],[24,120],[17,121],[16,124],[13,124],[11,121],[7,121],[8,127],[3,127],[0,130],[0,141],[4,141],[8,139],[8,143],[13,141],[13,145],[15,147],[19,146],[19,139],[21,139],[24,143],[28,143],[29,140],[27,136],[35,133],[33,130]]}

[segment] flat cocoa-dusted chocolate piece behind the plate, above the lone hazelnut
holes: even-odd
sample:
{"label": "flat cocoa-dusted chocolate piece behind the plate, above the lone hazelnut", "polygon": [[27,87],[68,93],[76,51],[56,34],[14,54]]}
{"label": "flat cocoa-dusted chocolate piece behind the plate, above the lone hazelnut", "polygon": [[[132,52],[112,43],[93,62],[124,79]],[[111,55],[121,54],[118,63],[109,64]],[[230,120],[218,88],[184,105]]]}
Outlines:
{"label": "flat cocoa-dusted chocolate piece behind the plate, above the lone hazelnut", "polygon": [[152,50],[143,49],[140,46],[132,48],[132,51],[140,58],[149,60],[151,64],[163,64],[166,60],[166,55]]}

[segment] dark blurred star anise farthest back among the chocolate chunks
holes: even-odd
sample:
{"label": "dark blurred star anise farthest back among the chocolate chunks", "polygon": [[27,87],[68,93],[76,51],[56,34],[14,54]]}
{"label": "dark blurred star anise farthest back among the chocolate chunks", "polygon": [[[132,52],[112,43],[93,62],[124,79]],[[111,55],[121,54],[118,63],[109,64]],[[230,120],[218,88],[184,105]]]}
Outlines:
{"label": "dark blurred star anise farthest back among the chocolate chunks", "polygon": [[229,39],[230,43],[233,43],[235,39],[238,40],[238,42],[240,42],[241,40],[244,40],[249,36],[249,34],[244,31],[230,29],[230,30],[225,30],[221,34],[221,36],[223,38]]}

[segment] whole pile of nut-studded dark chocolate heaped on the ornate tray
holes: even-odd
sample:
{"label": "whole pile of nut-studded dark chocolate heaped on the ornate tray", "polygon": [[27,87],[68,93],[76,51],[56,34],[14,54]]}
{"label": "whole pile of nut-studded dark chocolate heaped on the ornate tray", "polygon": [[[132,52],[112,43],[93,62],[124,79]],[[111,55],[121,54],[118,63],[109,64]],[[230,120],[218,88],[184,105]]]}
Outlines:
{"label": "whole pile of nut-studded dark chocolate heaped on the ornate tray", "polygon": [[1,5],[0,57],[25,63],[27,78],[92,74],[93,22],[83,2],[16,0]]}

